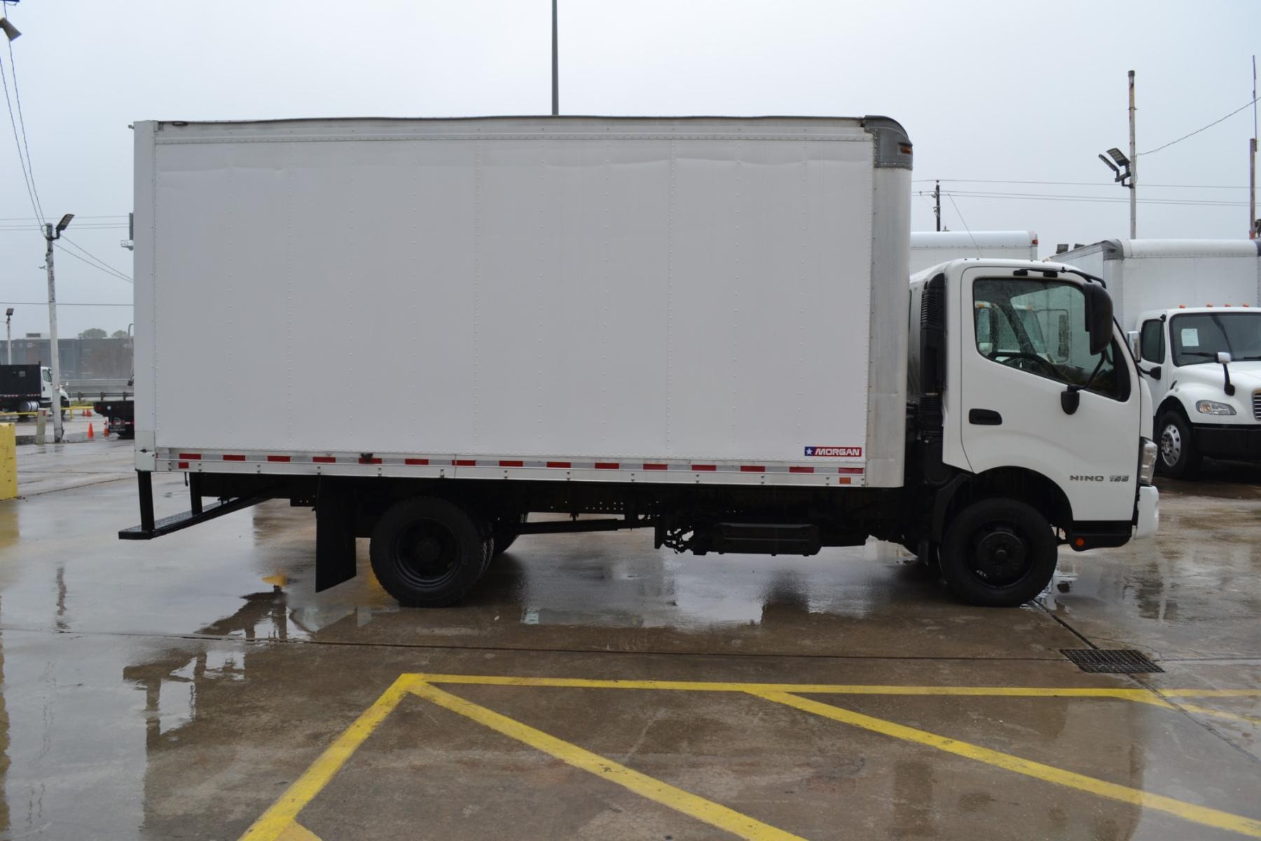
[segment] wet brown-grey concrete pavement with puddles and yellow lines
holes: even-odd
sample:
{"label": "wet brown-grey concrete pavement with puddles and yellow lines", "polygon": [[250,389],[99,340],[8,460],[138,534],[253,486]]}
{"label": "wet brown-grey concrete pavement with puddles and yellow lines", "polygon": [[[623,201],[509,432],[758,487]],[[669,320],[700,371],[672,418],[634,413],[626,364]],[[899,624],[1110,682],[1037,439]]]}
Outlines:
{"label": "wet brown-grey concrete pavement with puddles and yellow lines", "polygon": [[[308,841],[740,837],[721,809],[758,838],[1261,835],[1255,468],[1166,484],[1155,541],[1066,551],[1023,609],[960,605],[883,545],[696,559],[628,532],[523,537],[467,604],[417,612],[377,586],[366,542],[359,576],[315,594],[309,511],[124,543],[130,443],[19,449],[28,496],[0,503],[4,838],[236,838],[265,815],[270,837]],[[178,478],[155,496],[159,516],[187,507]],[[1165,672],[1061,654],[1090,644]],[[416,673],[455,677],[397,683]],[[768,683],[810,686],[792,706]]]}

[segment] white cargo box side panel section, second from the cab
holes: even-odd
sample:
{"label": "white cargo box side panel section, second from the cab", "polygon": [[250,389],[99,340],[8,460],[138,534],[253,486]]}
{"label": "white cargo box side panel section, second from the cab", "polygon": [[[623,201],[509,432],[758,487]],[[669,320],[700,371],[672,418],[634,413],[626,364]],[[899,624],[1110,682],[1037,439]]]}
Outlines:
{"label": "white cargo box side panel section, second from the cab", "polygon": [[460,451],[665,454],[670,141],[487,137],[477,208]]}

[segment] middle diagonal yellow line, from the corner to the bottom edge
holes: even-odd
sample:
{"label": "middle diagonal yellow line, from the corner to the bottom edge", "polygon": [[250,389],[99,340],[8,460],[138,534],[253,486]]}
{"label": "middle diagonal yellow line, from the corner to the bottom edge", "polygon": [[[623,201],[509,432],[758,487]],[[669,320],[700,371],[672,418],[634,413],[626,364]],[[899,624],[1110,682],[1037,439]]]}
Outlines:
{"label": "middle diagonal yellow line, from the corner to the bottom edge", "polygon": [[450,710],[451,712],[458,712],[467,719],[472,719],[480,725],[502,733],[509,739],[516,739],[517,741],[525,743],[531,748],[550,754],[556,759],[572,765],[574,768],[580,768],[585,772],[595,774],[600,779],[617,783],[618,786],[622,786],[641,797],[661,803],[662,806],[672,808],[676,812],[682,812],[683,815],[691,816],[710,826],[726,830],[738,837],[748,838],[749,841],[802,841],[801,836],[784,832],[783,830],[773,827],[769,823],[763,823],[757,818],[752,818],[748,815],[741,815],[740,812],[730,809],[725,806],[707,801],[704,797],[697,797],[696,794],[685,792],[681,788],[675,788],[668,783],[663,783],[660,779],[654,779],[647,774],[641,774],[639,772],[632,770],[625,765],[613,762],[612,759],[605,759],[599,754],[584,750],[575,744],[557,739],[556,736],[549,735],[542,730],[536,730],[535,728],[522,724],[516,719],[509,719],[506,715],[499,715],[498,712],[488,710],[484,706],[479,706],[472,701],[465,701],[464,699],[451,695],[450,692],[444,692],[436,686],[430,686],[424,681],[414,682],[411,685],[411,691],[427,701],[433,701],[434,704]]}

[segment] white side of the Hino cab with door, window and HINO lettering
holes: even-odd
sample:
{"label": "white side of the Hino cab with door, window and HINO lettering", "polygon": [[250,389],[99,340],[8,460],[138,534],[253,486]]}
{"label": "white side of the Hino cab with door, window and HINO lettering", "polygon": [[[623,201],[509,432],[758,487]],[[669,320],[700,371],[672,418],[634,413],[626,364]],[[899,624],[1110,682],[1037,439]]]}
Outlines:
{"label": "white side of the Hino cab with door, window and HINO lettering", "polygon": [[[1028,468],[1064,490],[1074,519],[1130,519],[1140,390],[1124,337],[1113,328],[1112,344],[1090,353],[1076,277],[976,267],[962,274],[960,293],[957,427],[972,472]],[[1078,392],[1073,414],[1062,403],[1069,387]]]}

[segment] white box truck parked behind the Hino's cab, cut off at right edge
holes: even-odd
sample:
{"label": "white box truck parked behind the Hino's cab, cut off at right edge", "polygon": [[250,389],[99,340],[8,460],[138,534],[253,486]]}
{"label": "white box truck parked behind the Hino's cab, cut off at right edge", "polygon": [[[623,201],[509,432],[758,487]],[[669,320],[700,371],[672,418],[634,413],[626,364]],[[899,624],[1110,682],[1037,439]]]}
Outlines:
{"label": "white box truck parked behind the Hino's cab, cut off at right edge", "polygon": [[1261,242],[1105,240],[1054,260],[1106,281],[1151,390],[1163,473],[1261,460]]}

